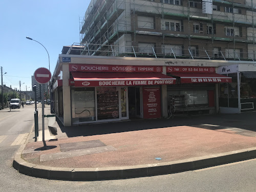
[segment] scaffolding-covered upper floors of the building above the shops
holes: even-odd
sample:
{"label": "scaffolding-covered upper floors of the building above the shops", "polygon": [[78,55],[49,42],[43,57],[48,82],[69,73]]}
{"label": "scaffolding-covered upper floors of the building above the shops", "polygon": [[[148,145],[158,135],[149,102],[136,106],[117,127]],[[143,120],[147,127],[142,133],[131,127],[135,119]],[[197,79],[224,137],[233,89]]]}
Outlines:
{"label": "scaffolding-covered upper floors of the building above the shops", "polygon": [[206,14],[202,1],[92,0],[79,18],[80,43],[70,50],[80,46],[81,55],[254,61],[256,1],[212,2],[213,13]]}

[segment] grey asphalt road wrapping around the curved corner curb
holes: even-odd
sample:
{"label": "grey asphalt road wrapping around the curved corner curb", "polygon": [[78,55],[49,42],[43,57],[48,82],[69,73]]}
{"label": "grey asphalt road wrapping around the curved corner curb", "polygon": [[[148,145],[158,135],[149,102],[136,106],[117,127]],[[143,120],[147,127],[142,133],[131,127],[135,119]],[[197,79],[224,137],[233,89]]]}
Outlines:
{"label": "grey asphalt road wrapping around the curved corner curb", "polygon": [[177,174],[107,181],[59,181],[19,174],[12,161],[32,129],[34,105],[8,111],[0,111],[0,191],[256,191],[256,159]]}

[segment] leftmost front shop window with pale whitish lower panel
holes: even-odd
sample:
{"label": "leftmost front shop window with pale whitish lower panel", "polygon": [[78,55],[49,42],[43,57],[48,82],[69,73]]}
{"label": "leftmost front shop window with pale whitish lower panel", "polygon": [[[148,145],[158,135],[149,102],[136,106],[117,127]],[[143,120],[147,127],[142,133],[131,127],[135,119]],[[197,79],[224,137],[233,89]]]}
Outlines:
{"label": "leftmost front shop window with pale whitish lower panel", "polygon": [[72,90],[73,122],[95,121],[95,89],[76,88]]}

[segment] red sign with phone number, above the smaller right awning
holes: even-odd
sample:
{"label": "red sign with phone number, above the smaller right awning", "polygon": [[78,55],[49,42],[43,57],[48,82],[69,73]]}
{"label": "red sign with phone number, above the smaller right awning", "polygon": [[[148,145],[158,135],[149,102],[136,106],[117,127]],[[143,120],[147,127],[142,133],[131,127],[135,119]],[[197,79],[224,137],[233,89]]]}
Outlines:
{"label": "red sign with phone number, above the smaller right awning", "polygon": [[215,73],[214,67],[182,67],[182,66],[166,66],[167,73]]}

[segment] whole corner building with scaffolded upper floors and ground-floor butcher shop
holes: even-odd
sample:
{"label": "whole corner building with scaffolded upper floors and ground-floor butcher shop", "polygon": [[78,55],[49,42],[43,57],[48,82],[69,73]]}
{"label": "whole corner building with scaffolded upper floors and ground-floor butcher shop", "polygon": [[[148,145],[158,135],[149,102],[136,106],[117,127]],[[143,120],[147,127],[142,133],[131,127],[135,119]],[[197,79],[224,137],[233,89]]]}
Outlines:
{"label": "whole corner building with scaffolded upper floors and ground-floor butcher shop", "polygon": [[92,0],[51,80],[65,126],[256,105],[253,1]]}

